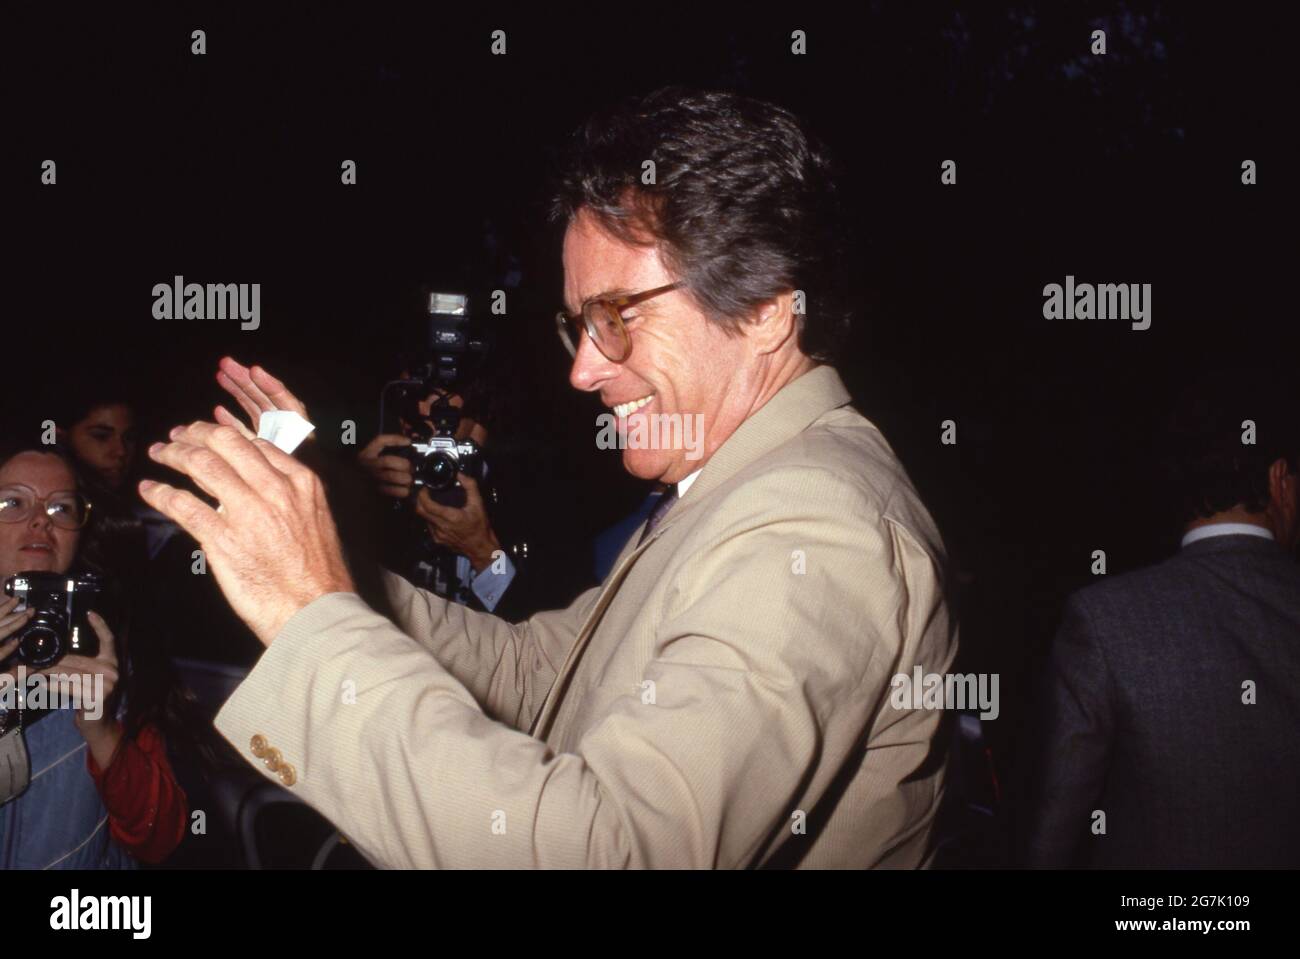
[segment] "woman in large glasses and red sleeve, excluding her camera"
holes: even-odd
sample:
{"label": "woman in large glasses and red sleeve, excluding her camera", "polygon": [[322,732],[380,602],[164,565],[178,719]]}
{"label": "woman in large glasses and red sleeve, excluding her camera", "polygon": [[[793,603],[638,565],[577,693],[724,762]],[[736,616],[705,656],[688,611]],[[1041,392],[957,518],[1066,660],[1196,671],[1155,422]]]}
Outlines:
{"label": "woman in large glasses and red sleeve, excluding her camera", "polygon": [[[0,580],[99,572],[91,515],[64,454],[0,451]],[[8,596],[0,603],[0,663],[10,676],[17,668],[5,660],[31,617],[16,606]],[[83,684],[101,677],[107,702],[3,713],[5,738],[22,737],[29,769],[25,789],[0,797],[0,868],[131,868],[162,860],[185,833],[185,793],[156,721],[161,700],[133,682],[142,671],[120,669],[133,661],[124,637],[98,613],[88,619],[99,655],[69,655],[51,671],[79,673]]]}

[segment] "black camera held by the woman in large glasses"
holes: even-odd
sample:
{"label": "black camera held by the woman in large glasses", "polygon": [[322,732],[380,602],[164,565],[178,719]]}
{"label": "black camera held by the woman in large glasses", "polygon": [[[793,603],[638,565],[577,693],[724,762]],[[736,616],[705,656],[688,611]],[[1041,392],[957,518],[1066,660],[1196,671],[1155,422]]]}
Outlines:
{"label": "black camera held by the woman in large glasses", "polygon": [[[23,664],[32,669],[53,665],[69,654],[99,655],[99,637],[86,613],[104,591],[104,581],[94,573],[18,573],[5,580],[6,596],[18,598],[18,609],[35,615],[14,637],[18,648],[4,667]],[[10,637],[13,638],[13,637]]]}

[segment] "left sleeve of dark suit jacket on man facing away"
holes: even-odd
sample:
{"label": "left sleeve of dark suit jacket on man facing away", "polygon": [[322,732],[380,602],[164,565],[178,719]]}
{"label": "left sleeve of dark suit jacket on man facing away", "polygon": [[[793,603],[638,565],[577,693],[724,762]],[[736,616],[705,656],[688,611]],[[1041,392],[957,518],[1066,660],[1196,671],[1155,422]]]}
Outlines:
{"label": "left sleeve of dark suit jacket on man facing away", "polygon": [[1032,867],[1078,865],[1114,735],[1110,671],[1078,595],[1066,604],[1053,642],[1037,712],[1026,860]]}

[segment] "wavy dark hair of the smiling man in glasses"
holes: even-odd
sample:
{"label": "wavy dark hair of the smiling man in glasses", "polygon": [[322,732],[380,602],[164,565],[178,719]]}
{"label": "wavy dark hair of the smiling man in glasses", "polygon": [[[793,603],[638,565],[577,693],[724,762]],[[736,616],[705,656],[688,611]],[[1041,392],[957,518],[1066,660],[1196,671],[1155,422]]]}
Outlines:
{"label": "wavy dark hair of the smiling man in glasses", "polygon": [[[655,182],[642,183],[654,161]],[[831,361],[850,312],[848,247],[826,148],[780,107],[664,87],[588,120],[563,159],[552,220],[590,211],[614,237],[656,244],[705,314],[725,330],[802,290],[800,348]]]}

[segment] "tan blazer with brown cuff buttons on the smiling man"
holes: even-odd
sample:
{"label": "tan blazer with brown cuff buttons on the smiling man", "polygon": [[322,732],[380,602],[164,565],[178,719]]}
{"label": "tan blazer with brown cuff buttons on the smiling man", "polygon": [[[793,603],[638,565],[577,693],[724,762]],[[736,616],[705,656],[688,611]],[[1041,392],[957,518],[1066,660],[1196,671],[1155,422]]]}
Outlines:
{"label": "tan blazer with brown cuff buttons on the smiling man", "polygon": [[889,681],[956,655],[942,546],[848,402],[792,382],[567,609],[321,596],[217,728],[384,867],[926,864],[940,712]]}

